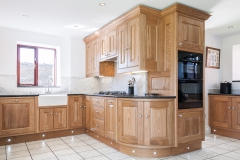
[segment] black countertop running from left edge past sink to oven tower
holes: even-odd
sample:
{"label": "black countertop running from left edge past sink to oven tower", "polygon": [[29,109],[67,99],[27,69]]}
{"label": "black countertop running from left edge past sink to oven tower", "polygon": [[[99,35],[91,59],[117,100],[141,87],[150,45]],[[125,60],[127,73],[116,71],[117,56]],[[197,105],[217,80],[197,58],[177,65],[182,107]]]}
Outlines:
{"label": "black countertop running from left edge past sink to oven tower", "polygon": [[[56,93],[57,94],[57,93]],[[5,94],[0,97],[34,97],[44,94]],[[51,94],[50,94],[51,95]],[[90,93],[66,93],[68,96],[86,95],[86,96],[99,96],[99,97],[113,97],[113,98],[142,98],[142,99],[162,99],[162,98],[176,98],[176,96],[137,96],[137,95],[105,95],[105,94],[90,94]]]}

